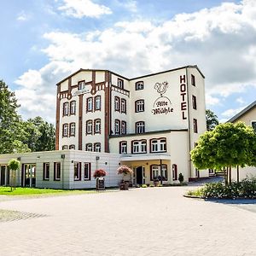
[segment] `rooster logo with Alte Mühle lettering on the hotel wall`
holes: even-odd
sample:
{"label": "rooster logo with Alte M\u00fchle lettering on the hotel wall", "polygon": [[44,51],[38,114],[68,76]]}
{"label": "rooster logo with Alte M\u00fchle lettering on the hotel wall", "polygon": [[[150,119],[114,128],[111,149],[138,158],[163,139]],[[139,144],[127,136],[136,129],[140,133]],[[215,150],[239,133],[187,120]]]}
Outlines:
{"label": "rooster logo with Alte M\u00fchle lettering on the hotel wall", "polygon": [[154,101],[152,113],[154,114],[161,114],[161,113],[172,113],[172,102],[170,99],[164,94],[166,93],[166,90],[168,88],[168,82],[162,82],[162,83],[155,83],[154,89],[160,94],[160,96]]}

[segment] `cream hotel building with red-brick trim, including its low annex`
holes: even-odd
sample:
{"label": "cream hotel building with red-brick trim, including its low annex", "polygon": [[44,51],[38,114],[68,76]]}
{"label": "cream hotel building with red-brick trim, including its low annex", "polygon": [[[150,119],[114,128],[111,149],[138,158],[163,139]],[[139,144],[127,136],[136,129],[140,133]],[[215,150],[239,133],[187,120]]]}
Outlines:
{"label": "cream hotel building with red-brick trim, including its low annex", "polygon": [[[22,163],[19,184],[32,185],[29,173],[35,173],[37,187],[95,187],[87,179],[88,166],[90,172],[98,167],[108,172],[107,186],[118,185],[119,165],[132,168],[134,185],[155,178],[177,183],[179,173],[184,181],[208,177],[207,170],[195,169],[189,155],[207,130],[204,79],[197,66],[134,79],[80,69],[57,84],[56,151],[1,155],[1,180],[3,170],[6,181],[6,164],[14,156]],[[56,170],[61,170],[61,182],[55,179]]]}

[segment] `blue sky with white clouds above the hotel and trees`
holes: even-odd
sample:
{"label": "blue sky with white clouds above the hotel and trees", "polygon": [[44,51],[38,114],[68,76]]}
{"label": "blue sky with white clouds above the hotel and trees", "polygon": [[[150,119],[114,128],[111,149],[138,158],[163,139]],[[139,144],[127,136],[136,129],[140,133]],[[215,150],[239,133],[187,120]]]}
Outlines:
{"label": "blue sky with white clouds above the hotel and trees", "polygon": [[1,0],[0,31],[0,79],[22,119],[54,124],[55,84],[80,68],[197,65],[221,122],[256,100],[255,0]]}

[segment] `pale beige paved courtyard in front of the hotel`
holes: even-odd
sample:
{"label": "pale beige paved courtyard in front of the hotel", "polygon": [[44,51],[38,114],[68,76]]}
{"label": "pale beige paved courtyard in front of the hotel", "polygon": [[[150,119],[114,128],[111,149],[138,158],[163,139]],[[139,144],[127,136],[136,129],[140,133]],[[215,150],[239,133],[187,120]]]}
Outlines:
{"label": "pale beige paved courtyard in front of the hotel", "polygon": [[184,198],[189,189],[0,198],[0,255],[256,255],[256,201]]}

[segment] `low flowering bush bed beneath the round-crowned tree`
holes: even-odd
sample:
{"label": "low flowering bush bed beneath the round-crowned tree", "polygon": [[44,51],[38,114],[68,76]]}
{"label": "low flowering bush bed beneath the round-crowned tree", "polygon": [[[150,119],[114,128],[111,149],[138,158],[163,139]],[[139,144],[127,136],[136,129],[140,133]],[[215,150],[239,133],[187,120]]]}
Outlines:
{"label": "low flowering bush bed beneath the round-crowned tree", "polygon": [[256,199],[256,178],[245,178],[240,183],[207,183],[201,189],[189,191],[188,195],[205,198],[250,198]]}

